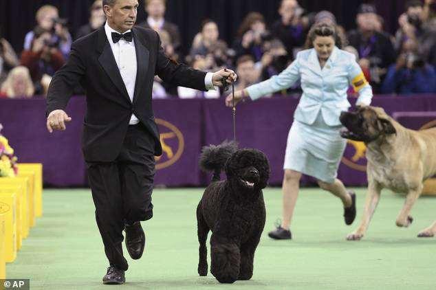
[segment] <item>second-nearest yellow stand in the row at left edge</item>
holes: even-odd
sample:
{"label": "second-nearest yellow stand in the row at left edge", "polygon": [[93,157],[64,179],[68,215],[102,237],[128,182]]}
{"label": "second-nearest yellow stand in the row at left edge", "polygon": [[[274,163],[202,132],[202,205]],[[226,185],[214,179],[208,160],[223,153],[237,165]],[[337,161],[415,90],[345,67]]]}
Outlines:
{"label": "second-nearest yellow stand in the row at left edge", "polygon": [[5,214],[6,263],[17,258],[17,201],[14,193],[0,193],[0,214]]}

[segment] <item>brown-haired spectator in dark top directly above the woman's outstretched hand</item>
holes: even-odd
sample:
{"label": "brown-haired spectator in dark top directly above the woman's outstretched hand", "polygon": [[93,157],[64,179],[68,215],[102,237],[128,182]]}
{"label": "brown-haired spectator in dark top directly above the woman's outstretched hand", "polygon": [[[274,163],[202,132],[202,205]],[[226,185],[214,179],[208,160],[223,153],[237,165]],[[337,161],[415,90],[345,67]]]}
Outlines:
{"label": "brown-haired spectator in dark top directly above the woman's outstretched hand", "polygon": [[265,17],[259,12],[248,13],[239,25],[238,35],[232,45],[235,49],[235,59],[247,54],[252,56],[255,62],[260,62],[264,52],[263,43],[272,38]]}

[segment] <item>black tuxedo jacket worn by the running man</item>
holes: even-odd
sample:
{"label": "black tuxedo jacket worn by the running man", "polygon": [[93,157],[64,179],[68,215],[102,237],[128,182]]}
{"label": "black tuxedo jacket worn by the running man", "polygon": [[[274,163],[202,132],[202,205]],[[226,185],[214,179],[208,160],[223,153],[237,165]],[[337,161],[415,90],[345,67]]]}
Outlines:
{"label": "black tuxedo jacket worn by the running man", "polygon": [[87,109],[83,120],[82,150],[85,161],[113,161],[120,153],[131,114],[155,139],[155,155],[162,154],[151,92],[157,74],[173,85],[205,91],[206,72],[177,64],[164,54],[157,32],[133,27],[138,72],[131,102],[105,27],[72,44],[65,65],[54,74],[47,93],[47,115],[65,109],[77,82],[85,88]]}

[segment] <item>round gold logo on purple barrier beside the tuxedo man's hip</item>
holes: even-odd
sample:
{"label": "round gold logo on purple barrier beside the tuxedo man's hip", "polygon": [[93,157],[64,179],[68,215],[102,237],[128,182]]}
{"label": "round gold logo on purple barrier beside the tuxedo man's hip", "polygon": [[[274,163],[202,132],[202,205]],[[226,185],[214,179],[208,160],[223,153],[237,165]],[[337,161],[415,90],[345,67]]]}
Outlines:
{"label": "round gold logo on purple barrier beside the tuxedo man's hip", "polygon": [[155,156],[158,170],[174,164],[182,155],[185,143],[182,132],[176,126],[162,119],[155,119],[155,122],[159,126],[163,152],[161,156]]}

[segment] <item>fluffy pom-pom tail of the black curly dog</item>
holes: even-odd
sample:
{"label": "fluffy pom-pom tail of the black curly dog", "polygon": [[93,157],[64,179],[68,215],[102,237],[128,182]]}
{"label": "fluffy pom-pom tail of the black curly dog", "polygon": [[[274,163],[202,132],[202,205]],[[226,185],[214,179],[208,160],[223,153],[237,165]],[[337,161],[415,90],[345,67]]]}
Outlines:
{"label": "fluffy pom-pom tail of the black curly dog", "polygon": [[223,170],[227,159],[235,153],[238,144],[235,141],[224,141],[218,146],[209,145],[201,148],[199,168],[206,172]]}

